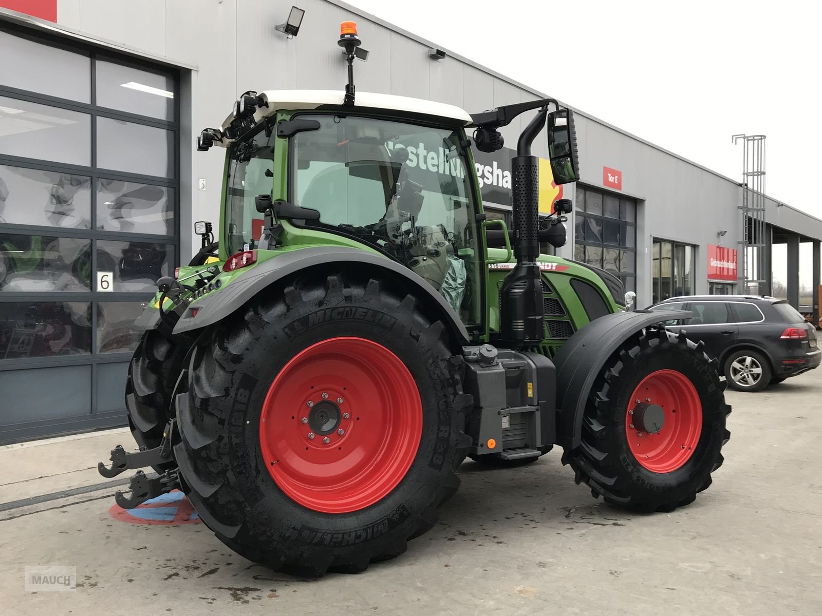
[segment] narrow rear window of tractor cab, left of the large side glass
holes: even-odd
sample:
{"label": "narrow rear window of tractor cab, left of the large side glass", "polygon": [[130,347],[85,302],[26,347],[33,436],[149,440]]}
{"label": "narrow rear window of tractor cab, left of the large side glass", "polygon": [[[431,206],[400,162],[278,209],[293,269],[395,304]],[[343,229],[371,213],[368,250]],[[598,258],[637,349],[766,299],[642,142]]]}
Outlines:
{"label": "narrow rear window of tractor cab, left of the large side glass", "polygon": [[259,131],[229,150],[229,177],[225,195],[229,241],[227,253],[256,248],[262,235],[263,215],[256,211],[256,195],[270,195],[274,186],[273,132]]}

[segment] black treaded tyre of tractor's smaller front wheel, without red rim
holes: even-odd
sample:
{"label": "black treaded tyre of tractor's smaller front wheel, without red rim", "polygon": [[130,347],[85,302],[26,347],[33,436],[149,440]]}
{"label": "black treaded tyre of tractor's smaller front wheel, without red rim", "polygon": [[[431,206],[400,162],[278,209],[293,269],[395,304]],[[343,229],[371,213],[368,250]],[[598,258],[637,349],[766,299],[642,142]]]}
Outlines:
{"label": "black treaded tyre of tractor's smaller front wheel, without red rim", "polygon": [[[685,334],[644,329],[607,361],[595,381],[585,409],[580,447],[563,453],[577,484],[584,482],[594,498],[639,512],[671,512],[690,504],[711,485],[711,474],[722,466],[721,449],[731,434],[726,418],[725,385],[716,360]],[[645,469],[630,452],[626,439],[626,409],[640,380],[655,370],[678,370],[695,385],[703,409],[702,434],[690,459],[676,471]]]}

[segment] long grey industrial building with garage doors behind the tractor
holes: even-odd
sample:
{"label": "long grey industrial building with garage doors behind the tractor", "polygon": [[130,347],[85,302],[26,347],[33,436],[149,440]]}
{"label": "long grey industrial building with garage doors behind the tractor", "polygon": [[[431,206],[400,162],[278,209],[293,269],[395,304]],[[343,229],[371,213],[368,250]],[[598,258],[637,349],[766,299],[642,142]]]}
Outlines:
{"label": "long grey industrial building with garage doors behind the tractor", "polygon": [[[358,91],[469,113],[546,95],[343,2],[299,8],[289,34],[281,0],[0,0],[0,443],[124,424],[133,320],[196,251],[193,222],[218,223],[224,159],[197,153],[196,135],[245,90],[342,90],[341,21],[358,22],[368,52]],[[781,242],[798,306],[812,242],[802,265],[818,287],[822,220],[749,190],[757,169],[746,187],[575,117],[581,181],[552,195],[575,204],[559,255],[619,275],[642,307],[767,294]],[[502,130],[507,143],[527,119]],[[476,155],[487,212],[509,222],[510,154]]]}

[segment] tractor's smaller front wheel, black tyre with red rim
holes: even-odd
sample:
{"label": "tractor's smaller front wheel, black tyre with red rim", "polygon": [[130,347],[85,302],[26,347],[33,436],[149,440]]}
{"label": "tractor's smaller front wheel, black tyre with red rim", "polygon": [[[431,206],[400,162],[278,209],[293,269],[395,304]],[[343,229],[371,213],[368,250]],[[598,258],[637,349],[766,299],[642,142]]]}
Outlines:
{"label": "tractor's smaller front wheel, black tyre with red rim", "polygon": [[684,334],[646,330],[626,341],[591,389],[580,446],[563,456],[577,483],[643,512],[693,502],[730,438],[714,366]]}

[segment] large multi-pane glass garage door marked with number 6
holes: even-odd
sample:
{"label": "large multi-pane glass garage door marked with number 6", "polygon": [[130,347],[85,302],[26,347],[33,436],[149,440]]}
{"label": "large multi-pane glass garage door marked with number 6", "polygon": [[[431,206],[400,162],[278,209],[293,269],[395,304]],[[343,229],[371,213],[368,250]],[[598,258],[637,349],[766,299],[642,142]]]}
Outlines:
{"label": "large multi-pane glass garage door marked with number 6", "polygon": [[177,71],[0,25],[0,443],[126,423],[179,263]]}

